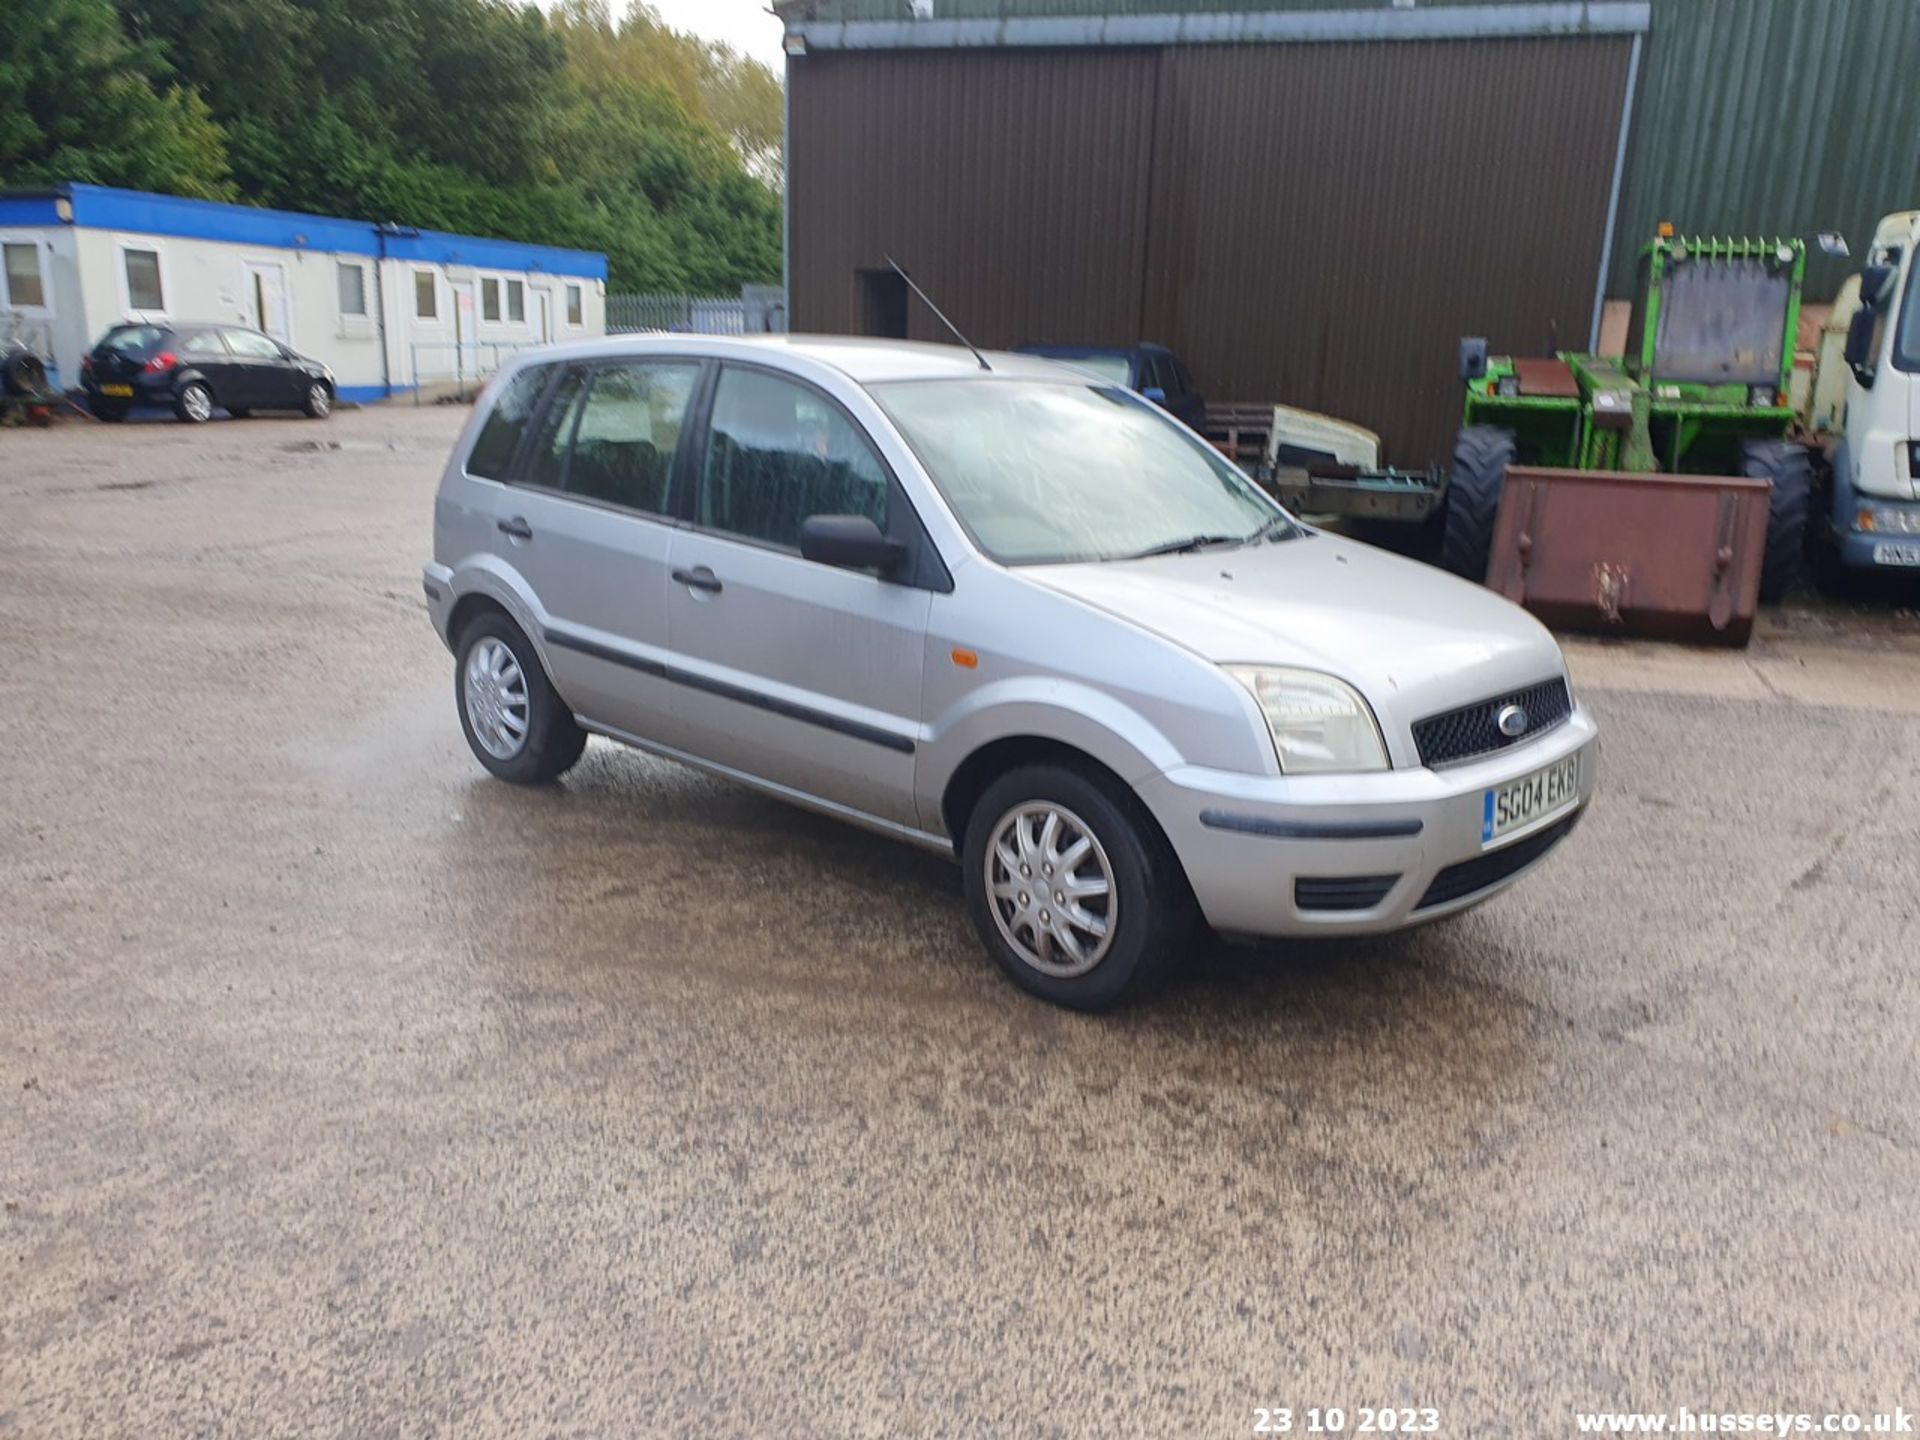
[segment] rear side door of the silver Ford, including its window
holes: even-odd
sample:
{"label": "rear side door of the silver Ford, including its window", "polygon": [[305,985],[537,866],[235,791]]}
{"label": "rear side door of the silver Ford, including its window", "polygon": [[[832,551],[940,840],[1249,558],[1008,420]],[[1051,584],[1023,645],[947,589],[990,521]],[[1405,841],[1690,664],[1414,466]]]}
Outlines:
{"label": "rear side door of the silver Ford, including its window", "polygon": [[703,361],[568,365],[495,511],[495,555],[543,611],[553,684],[603,728],[672,745],[666,555]]}

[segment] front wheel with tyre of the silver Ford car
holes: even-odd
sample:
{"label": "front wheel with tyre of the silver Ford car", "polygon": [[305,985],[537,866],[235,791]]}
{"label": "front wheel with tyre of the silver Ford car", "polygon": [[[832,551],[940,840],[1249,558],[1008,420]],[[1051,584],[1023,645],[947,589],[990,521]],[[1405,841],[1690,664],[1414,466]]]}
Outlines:
{"label": "front wheel with tyre of the silver Ford car", "polygon": [[[995,780],[968,818],[962,864],[987,952],[1043,1000],[1133,1004],[1192,943],[1196,906],[1179,858],[1139,799],[1091,770],[1025,764]],[[1043,874],[1050,864],[1058,870]]]}

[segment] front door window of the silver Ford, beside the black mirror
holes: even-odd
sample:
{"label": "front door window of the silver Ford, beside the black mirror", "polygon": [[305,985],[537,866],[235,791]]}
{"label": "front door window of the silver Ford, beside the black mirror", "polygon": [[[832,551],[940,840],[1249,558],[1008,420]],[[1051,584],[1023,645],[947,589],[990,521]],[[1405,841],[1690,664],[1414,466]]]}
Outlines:
{"label": "front door window of the silver Ford, beside the black mirror", "polygon": [[887,470],[826,396],[762,371],[720,371],[701,524],[799,549],[810,515],[887,528]]}

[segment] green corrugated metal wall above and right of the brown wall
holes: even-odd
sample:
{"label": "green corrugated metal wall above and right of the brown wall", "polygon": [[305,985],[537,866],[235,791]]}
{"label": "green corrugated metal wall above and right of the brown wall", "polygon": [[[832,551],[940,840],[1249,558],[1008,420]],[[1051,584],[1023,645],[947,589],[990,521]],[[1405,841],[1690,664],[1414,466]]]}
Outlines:
{"label": "green corrugated metal wall above and right of the brown wall", "polygon": [[[1421,8],[1526,0],[1421,0]],[[1363,0],[935,0],[937,19],[1367,10]],[[1379,8],[1388,8],[1380,4]],[[908,0],[791,0],[793,19],[904,19]],[[1609,290],[1684,232],[1841,230],[1920,205],[1920,0],[1653,0]],[[1847,275],[1816,259],[1811,300]]]}

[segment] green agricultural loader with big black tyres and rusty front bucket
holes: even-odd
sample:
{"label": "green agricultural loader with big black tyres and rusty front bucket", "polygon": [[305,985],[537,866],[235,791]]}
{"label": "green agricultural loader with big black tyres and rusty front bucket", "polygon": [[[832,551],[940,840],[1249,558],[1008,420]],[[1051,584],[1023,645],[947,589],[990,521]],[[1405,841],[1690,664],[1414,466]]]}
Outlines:
{"label": "green agricultural loader with big black tyres and rusty front bucket", "polygon": [[[1843,253],[1837,236],[1822,236],[1820,244]],[[1759,516],[1747,524],[1730,513],[1703,509],[1713,497],[1711,484],[1632,484],[1634,476],[1715,476],[1724,478],[1726,493],[1740,495],[1751,509],[1759,505],[1755,482],[1768,484],[1759,599],[1778,599],[1803,563],[1812,484],[1812,457],[1791,438],[1789,397],[1805,271],[1801,240],[1674,236],[1672,227],[1663,225],[1659,238],[1642,252],[1624,357],[1490,357],[1484,340],[1463,340],[1459,372],[1467,407],[1453,447],[1442,564],[1498,588],[1501,559],[1496,551],[1517,545],[1521,555],[1507,566],[1503,586],[1509,593],[1526,589],[1511,576],[1538,543],[1532,532],[1544,528],[1548,501],[1528,501],[1536,511],[1532,522],[1517,516],[1501,524],[1500,511],[1509,467],[1534,467],[1523,474],[1542,493],[1549,482],[1571,492],[1580,482],[1605,480],[1615,482],[1613,495],[1630,501],[1609,509],[1590,497],[1578,511],[1588,540],[1607,524],[1620,532],[1607,538],[1611,549],[1596,551],[1588,543],[1574,557],[1592,570],[1596,601],[1607,618],[1620,620],[1626,589],[1638,586],[1647,597],[1661,588],[1659,564],[1672,574],[1674,563],[1688,561],[1674,526],[1667,524],[1668,515],[1684,507],[1705,516],[1701,574],[1707,578],[1699,609],[1705,612],[1711,593],[1713,607],[1724,611],[1720,591],[1738,591],[1741,566],[1751,568],[1745,553],[1736,563],[1730,551],[1755,549]],[[1599,495],[1603,486],[1590,484],[1590,492]],[[1563,540],[1576,509],[1559,505]],[[1663,559],[1661,547],[1672,559]],[[1599,559],[1592,559],[1596,555]],[[1538,561],[1538,553],[1532,559]],[[1642,566],[1638,578],[1630,574],[1634,564]],[[1724,574],[1728,570],[1732,574]],[[1743,603],[1751,616],[1751,589],[1732,601]],[[1532,605],[1530,591],[1526,603]],[[1690,601],[1672,603],[1672,614],[1688,609]],[[1726,620],[1715,628],[1724,630]],[[1740,637],[1743,634],[1741,628]]]}

